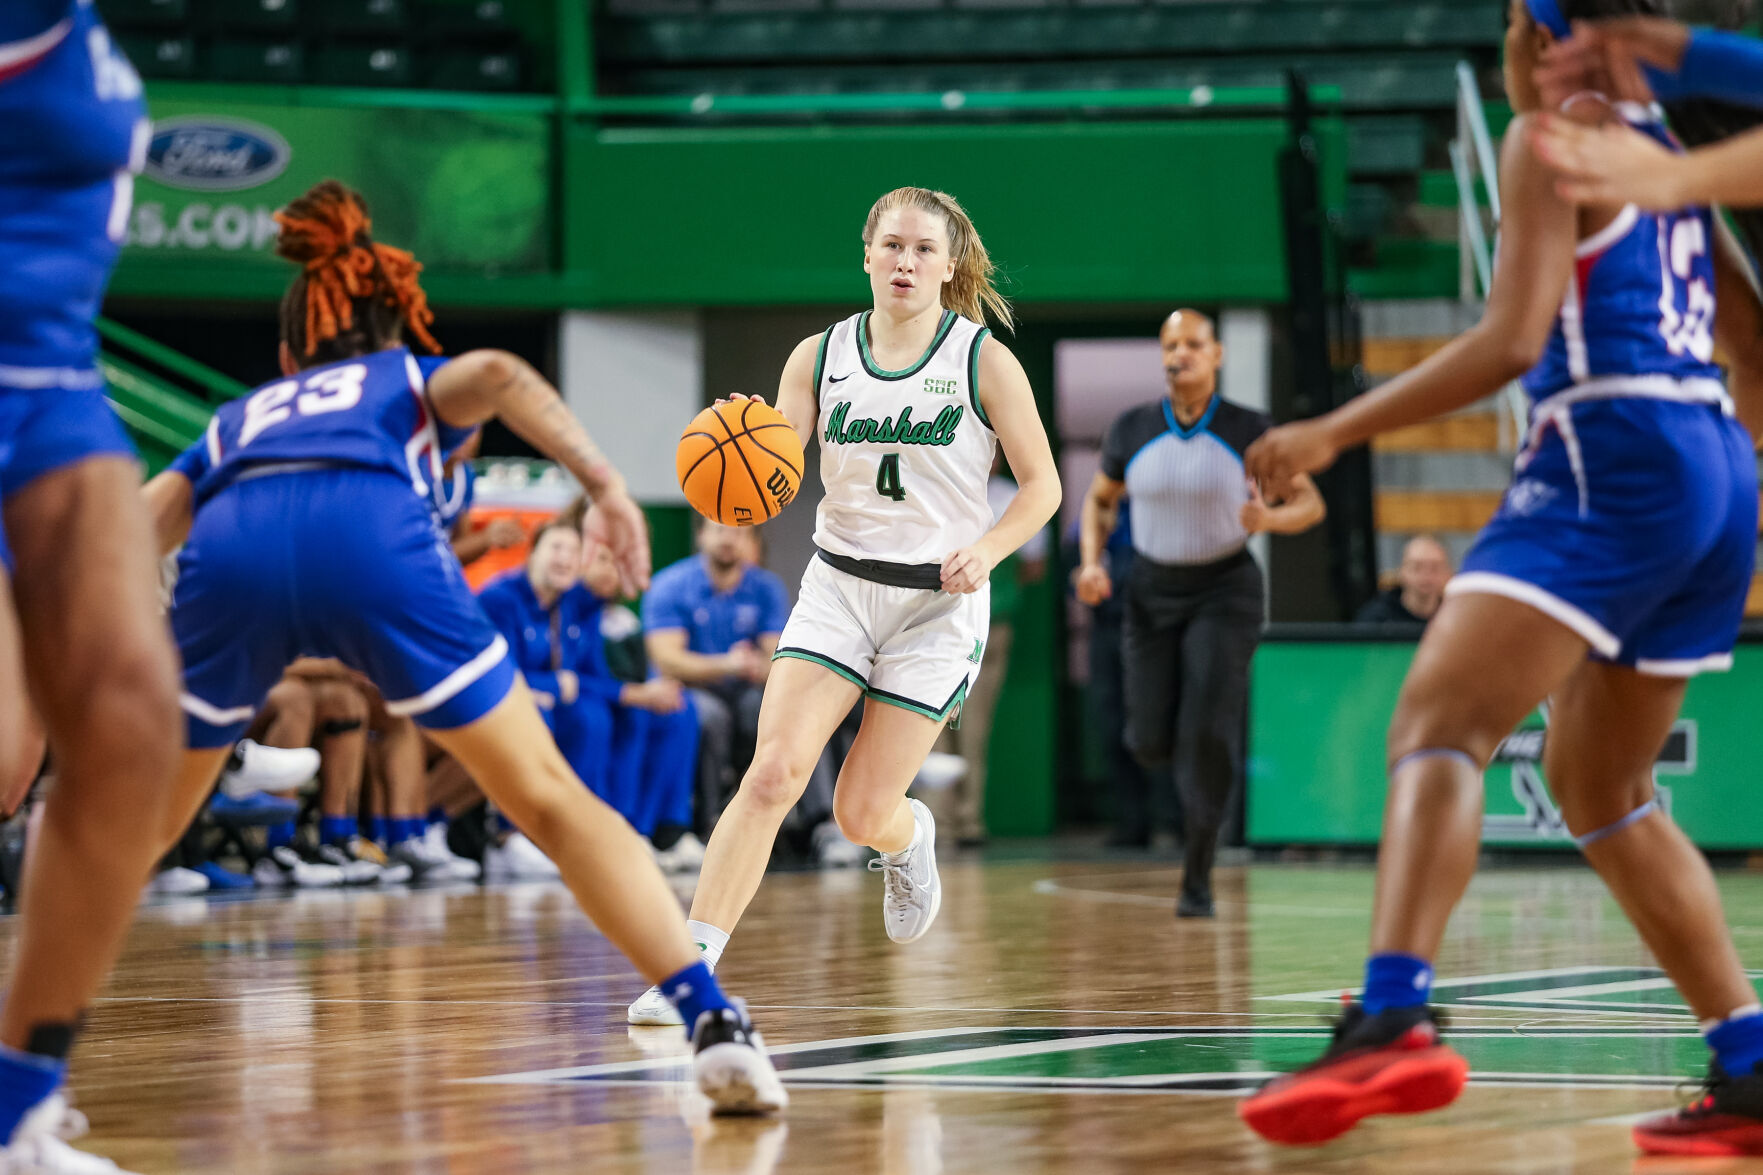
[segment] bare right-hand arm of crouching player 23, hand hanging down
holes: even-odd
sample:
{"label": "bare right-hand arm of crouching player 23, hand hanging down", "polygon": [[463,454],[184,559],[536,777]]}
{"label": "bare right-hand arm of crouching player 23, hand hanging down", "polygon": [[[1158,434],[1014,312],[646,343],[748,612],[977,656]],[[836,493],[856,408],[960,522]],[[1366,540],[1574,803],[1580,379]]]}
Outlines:
{"label": "bare right-hand arm of crouching player 23, hand hanging down", "polygon": [[649,528],[624,490],[624,478],[575,418],[557,388],[531,363],[508,351],[467,351],[428,378],[428,402],[455,429],[501,420],[515,436],[575,475],[596,510],[584,529],[603,542],[619,565],[628,595],[649,586]]}

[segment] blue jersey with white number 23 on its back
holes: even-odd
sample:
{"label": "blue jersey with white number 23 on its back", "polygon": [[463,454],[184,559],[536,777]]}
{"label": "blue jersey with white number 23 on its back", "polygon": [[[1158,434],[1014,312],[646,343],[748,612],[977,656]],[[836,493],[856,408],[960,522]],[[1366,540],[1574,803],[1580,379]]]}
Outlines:
{"label": "blue jersey with white number 23 on its back", "polygon": [[443,363],[391,348],[266,383],[224,404],[171,468],[196,483],[197,506],[254,466],[310,462],[397,473],[437,510],[441,466],[471,436],[428,404]]}

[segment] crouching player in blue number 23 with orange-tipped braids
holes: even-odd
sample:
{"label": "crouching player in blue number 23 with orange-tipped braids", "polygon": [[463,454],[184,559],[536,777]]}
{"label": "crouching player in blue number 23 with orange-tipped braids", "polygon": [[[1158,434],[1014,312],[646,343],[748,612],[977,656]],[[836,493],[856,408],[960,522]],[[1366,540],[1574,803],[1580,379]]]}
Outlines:
{"label": "crouching player in blue number 23 with orange-tipped braids", "polygon": [[[647,845],[569,771],[532,695],[465,586],[432,515],[448,453],[492,418],[592,494],[599,535],[635,591],[649,579],[642,512],[538,372],[506,351],[416,358],[432,314],[416,261],[370,236],[335,180],[284,212],[277,252],[301,266],[282,302],[286,379],[220,408],[153,478],[166,550],[183,542],[171,626],[190,752],[169,842],[227,748],[298,655],[368,677],[552,857],[577,902],[679,1007],[698,1087],[718,1111],[786,1096],[744,1009],[698,960]],[[185,538],[187,536],[187,538]],[[361,568],[374,568],[363,575]]]}

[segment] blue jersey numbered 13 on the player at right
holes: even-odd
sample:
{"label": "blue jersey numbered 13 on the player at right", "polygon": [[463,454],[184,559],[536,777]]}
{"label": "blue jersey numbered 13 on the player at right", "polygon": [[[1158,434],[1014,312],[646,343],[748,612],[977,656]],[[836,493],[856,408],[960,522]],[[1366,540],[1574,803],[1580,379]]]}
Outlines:
{"label": "blue jersey numbered 13 on the player at right", "polygon": [[[1636,131],[1680,152],[1664,123],[1624,104]],[[1714,219],[1707,208],[1629,205],[1580,242],[1573,279],[1543,360],[1523,376],[1532,400],[1580,385],[1721,381],[1714,365]],[[1670,395],[1670,393],[1668,393]]]}

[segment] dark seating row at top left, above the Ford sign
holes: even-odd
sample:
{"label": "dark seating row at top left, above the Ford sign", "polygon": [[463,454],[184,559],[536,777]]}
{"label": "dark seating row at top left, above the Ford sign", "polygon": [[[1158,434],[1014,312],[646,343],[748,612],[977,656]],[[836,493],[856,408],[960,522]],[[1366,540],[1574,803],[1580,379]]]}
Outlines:
{"label": "dark seating row at top left, above the Ford sign", "polygon": [[104,0],[104,18],[150,81],[525,90],[548,71],[510,4]]}

